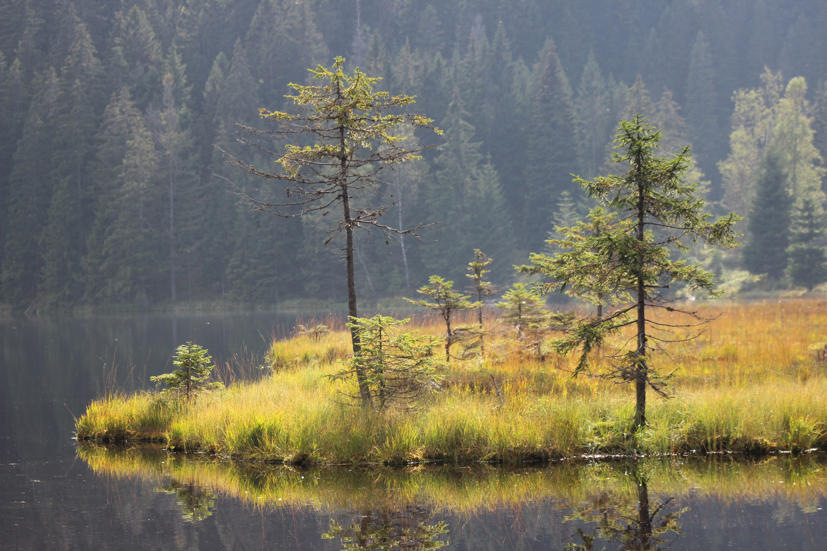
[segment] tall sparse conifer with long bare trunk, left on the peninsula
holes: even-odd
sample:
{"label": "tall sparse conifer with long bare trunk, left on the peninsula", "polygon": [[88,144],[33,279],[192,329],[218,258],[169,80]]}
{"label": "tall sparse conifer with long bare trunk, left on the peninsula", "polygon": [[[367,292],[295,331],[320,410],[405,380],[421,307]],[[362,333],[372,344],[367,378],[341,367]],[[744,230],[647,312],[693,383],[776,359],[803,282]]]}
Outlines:
{"label": "tall sparse conifer with long bare trunk, left on the peninsula", "polygon": [[[420,224],[404,230],[380,221],[385,211],[395,204],[382,197],[382,189],[389,185],[382,180],[382,171],[421,159],[417,153],[430,147],[406,147],[403,126],[430,128],[440,135],[442,131],[431,126],[432,119],[400,112],[414,103],[414,97],[374,92],[373,87],[381,78],[370,78],[358,68],[352,75],[345,74],[344,64],[345,59],[337,57],[331,69],[322,65],[310,69],[313,80],[320,83],[308,86],[290,83],[296,94],[287,97],[298,107],[296,112],[261,109],[261,117],[276,125],[274,130],[238,125],[254,138],[242,141],[260,150],[265,157],[275,159],[280,169],[273,172],[256,169],[232,154],[224,154],[228,163],[248,173],[284,183],[284,199],[251,197],[236,187],[255,207],[254,211],[284,218],[313,216],[316,220],[332,215],[324,245],[342,234],[345,237],[342,250],[347,266],[347,307],[348,314],[356,318],[353,230],[379,230],[387,241],[392,235],[409,234],[428,226]],[[312,145],[287,144],[283,152],[271,151],[256,140],[262,135],[305,143],[309,140]],[[356,329],[351,331],[351,340],[353,353],[358,354],[360,342]],[[364,382],[361,388],[367,401]]]}

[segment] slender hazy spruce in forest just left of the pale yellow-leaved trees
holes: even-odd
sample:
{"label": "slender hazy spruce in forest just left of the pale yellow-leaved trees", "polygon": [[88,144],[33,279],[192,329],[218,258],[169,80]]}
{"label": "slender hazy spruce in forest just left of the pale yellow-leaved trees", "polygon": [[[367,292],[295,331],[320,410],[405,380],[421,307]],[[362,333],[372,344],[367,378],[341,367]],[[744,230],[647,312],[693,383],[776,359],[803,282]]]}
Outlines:
{"label": "slender hazy spruce in forest just left of the pale yellow-leaved trees", "polygon": [[718,105],[715,98],[715,72],[712,68],[710,45],[703,31],[698,32],[689,55],[689,76],[686,80],[686,121],[689,140],[695,144],[696,163],[705,173],[715,162],[720,150],[718,136]]}

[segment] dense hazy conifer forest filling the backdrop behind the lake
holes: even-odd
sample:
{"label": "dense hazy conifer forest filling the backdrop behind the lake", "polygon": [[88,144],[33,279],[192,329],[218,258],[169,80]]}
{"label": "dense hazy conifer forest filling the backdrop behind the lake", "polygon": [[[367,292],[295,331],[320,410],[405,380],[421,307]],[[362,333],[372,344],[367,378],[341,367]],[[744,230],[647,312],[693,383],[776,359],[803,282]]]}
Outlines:
{"label": "dense hazy conifer forest filling the backdrop behind the lake", "polygon": [[698,259],[820,283],[827,2],[0,0],[0,303],[342,302],[327,226],[251,215],[227,179],[277,190],[216,148],[266,167],[233,123],[289,108],[288,83],[335,55],[445,130],[410,135],[437,147],[385,178],[394,225],[441,224],[361,235],[361,297],[464,280],[475,248],[514,279],[582,216],[569,174],[614,170],[635,112],[664,154],[693,146],[716,211],[747,216],[742,252]]}

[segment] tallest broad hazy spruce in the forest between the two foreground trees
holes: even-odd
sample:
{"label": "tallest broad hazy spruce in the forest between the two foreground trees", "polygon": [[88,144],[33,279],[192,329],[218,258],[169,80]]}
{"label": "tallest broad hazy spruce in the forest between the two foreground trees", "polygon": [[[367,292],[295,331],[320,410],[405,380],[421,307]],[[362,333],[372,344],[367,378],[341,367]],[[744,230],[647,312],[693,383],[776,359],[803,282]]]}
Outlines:
{"label": "tallest broad hazy spruce in the forest between the two foreground trees", "polygon": [[523,242],[531,249],[543,246],[543,233],[554,210],[553,197],[571,188],[571,167],[576,165],[576,135],[571,88],[549,39],[534,66],[533,103],[528,122],[526,194]]}

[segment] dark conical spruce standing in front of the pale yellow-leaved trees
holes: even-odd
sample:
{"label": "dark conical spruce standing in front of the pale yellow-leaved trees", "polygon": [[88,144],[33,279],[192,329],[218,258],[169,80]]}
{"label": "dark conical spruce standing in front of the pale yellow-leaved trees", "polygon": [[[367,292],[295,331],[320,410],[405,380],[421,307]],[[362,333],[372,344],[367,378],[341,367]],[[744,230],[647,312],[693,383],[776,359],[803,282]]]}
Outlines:
{"label": "dark conical spruce standing in front of the pale yellow-leaved trees", "polygon": [[747,218],[749,238],[743,248],[744,268],[755,274],[766,273],[773,281],[782,278],[790,245],[791,207],[782,161],[769,150],[762,159]]}

